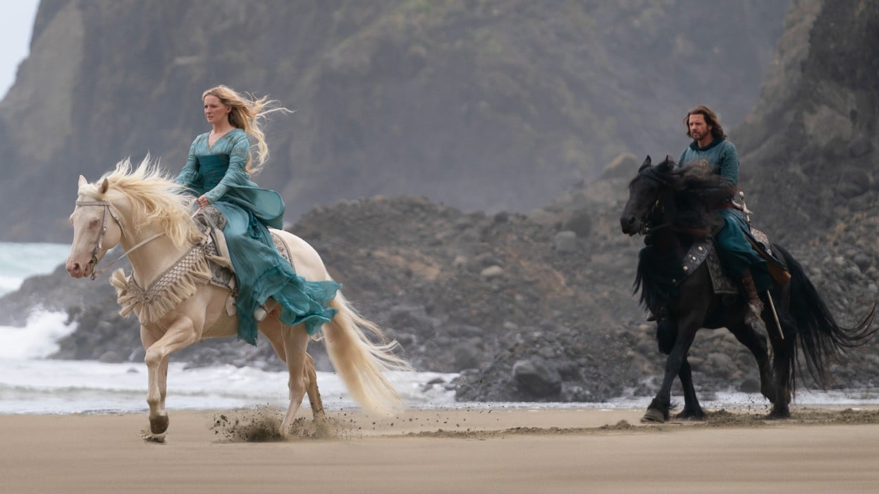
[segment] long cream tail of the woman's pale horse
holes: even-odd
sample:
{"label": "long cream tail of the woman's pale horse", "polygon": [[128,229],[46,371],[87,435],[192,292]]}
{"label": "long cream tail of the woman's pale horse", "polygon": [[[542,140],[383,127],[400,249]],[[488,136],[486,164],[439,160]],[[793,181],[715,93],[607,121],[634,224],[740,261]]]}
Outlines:
{"label": "long cream tail of the woman's pale horse", "polygon": [[[330,302],[338,309],[323,325],[327,353],[333,367],[357,403],[367,412],[389,415],[402,406],[400,396],[385,375],[388,371],[411,371],[409,363],[396,355],[400,345],[387,341],[384,331],[345,300],[341,292]],[[381,340],[373,343],[367,334]]]}

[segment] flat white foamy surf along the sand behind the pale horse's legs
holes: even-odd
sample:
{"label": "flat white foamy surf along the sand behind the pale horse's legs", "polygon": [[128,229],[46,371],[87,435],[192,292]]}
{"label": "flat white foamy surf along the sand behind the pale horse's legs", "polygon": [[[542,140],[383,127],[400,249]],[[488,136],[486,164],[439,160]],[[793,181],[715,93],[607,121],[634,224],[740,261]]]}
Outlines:
{"label": "flat white foamy surf along the sand behind the pale horse's legs", "polygon": [[[172,409],[215,410],[270,405],[287,407],[287,373],[221,365],[184,368],[171,362],[167,405]],[[442,386],[457,374],[392,373],[403,402],[411,408],[454,403],[454,391]],[[317,373],[328,409],[356,408],[335,373]],[[437,382],[438,384],[430,384]],[[93,360],[0,359],[0,414],[131,412],[146,406],[147,372],[142,364],[105,364]],[[308,398],[303,401],[308,406]]]}

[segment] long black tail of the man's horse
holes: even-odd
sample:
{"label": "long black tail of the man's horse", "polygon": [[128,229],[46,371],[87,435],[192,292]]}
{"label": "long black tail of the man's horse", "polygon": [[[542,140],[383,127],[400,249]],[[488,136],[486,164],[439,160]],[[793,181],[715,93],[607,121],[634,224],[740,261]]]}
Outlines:
{"label": "long black tail of the man's horse", "polygon": [[[873,326],[876,306],[870,309],[867,316],[852,328],[840,326],[833,319],[827,304],[821,299],[812,282],[803,271],[803,266],[778,244],[773,244],[777,252],[781,252],[790,272],[790,321],[794,331],[785,331],[789,352],[786,357],[790,369],[791,389],[795,389],[794,368],[797,365],[797,346],[803,352],[809,374],[819,386],[827,386],[826,364],[830,360],[839,360],[849,350],[868,343],[879,328]],[[781,314],[779,315],[781,316]],[[787,318],[787,317],[785,317]],[[787,326],[788,324],[782,324]],[[793,334],[788,335],[788,332]],[[793,338],[791,338],[793,337]],[[799,345],[796,345],[799,342]]]}

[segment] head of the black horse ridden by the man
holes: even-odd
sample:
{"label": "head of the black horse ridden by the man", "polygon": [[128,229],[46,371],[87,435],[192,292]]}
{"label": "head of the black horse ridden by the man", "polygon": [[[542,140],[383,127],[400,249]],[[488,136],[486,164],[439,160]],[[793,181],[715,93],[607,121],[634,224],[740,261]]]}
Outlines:
{"label": "head of the black horse ridden by the man", "polygon": [[675,163],[671,156],[665,156],[665,160],[657,165],[651,164],[650,156],[644,159],[638,174],[628,184],[628,202],[620,215],[622,233],[628,235],[643,233],[648,216],[668,189],[668,177],[674,167]]}

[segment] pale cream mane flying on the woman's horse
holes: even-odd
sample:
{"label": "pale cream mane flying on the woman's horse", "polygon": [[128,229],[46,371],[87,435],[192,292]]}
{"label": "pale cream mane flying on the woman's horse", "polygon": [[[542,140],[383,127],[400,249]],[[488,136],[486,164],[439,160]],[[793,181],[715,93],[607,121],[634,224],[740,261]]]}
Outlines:
{"label": "pale cream mane flying on the woman's horse", "polygon": [[[100,193],[98,184],[107,180],[109,187]],[[190,217],[193,197],[186,188],[165,176],[158,163],[152,163],[149,155],[134,167],[129,158],[116,163],[116,168],[104,174],[97,184],[84,184],[79,193],[94,200],[108,200],[107,195],[116,191],[131,202],[134,229],[159,222],[171,241],[178,246],[195,243],[200,231]]]}

